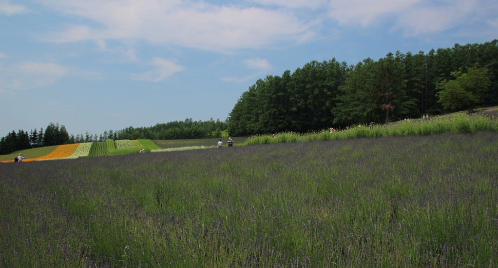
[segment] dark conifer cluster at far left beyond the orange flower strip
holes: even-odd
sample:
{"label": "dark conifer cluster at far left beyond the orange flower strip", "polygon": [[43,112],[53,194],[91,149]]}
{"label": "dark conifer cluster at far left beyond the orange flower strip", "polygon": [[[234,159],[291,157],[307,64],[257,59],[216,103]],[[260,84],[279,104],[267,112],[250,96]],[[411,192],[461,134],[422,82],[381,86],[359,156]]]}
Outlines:
{"label": "dark conifer cluster at far left beyond the orange flower strip", "polygon": [[64,125],[59,126],[59,123],[50,123],[45,131],[43,128],[40,131],[36,129],[29,133],[24,130],[14,130],[7,136],[0,139],[0,154],[10,154],[15,151],[25,150],[35,147],[64,145],[71,143],[69,134]]}

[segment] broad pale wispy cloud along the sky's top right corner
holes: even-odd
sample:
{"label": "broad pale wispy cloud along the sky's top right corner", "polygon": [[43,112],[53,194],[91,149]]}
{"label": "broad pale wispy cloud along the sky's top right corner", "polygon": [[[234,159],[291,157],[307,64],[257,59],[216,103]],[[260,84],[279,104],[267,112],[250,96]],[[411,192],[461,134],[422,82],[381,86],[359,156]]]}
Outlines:
{"label": "broad pale wispy cloud along the sky's top right corner", "polygon": [[[493,12],[486,12],[492,9]],[[472,20],[483,13],[496,14],[489,0],[338,0],[330,1],[328,14],[343,26],[375,28],[391,24],[408,36],[438,33]],[[467,19],[463,19],[467,18]]]}

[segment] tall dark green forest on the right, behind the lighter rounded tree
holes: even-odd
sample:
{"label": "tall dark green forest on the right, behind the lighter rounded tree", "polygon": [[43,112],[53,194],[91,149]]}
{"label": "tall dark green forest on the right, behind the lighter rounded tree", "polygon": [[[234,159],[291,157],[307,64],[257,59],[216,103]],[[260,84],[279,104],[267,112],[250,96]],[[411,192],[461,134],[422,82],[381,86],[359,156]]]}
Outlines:
{"label": "tall dark green forest on the right, behind the lighter rounded tree", "polygon": [[438,92],[448,91],[450,86],[454,89],[456,84],[445,86],[447,82],[472,68],[485,73],[489,83],[483,85],[487,88],[479,91],[478,97],[459,88],[459,97],[472,96],[472,105],[497,105],[496,39],[484,44],[455,44],[427,54],[397,51],[351,66],[335,58],[311,61],[292,74],[287,70],[281,76],[258,79],[229,114],[228,132],[233,136],[305,133],[452,111],[460,107],[442,101],[448,94]]}

